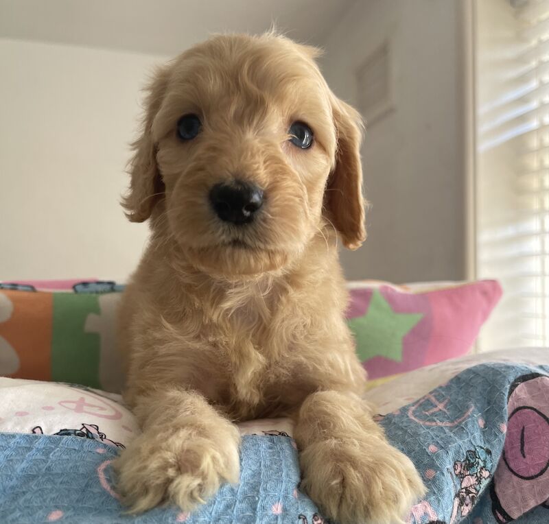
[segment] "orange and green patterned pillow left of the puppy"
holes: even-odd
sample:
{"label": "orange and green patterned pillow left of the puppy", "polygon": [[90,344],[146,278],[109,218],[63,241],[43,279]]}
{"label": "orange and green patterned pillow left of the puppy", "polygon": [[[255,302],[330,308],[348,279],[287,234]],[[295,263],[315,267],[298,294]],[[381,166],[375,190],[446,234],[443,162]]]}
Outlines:
{"label": "orange and green patterned pillow left of the puppy", "polygon": [[0,375],[118,392],[121,289],[110,281],[0,283]]}

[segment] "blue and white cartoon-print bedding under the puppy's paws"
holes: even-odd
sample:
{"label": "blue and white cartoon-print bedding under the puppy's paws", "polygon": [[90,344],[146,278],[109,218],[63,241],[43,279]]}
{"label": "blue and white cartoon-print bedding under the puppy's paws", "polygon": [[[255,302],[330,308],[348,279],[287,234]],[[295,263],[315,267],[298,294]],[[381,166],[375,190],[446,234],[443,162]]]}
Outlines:
{"label": "blue and white cartoon-print bedding under the puppy's paws", "polygon": [[[549,521],[549,350],[446,361],[366,398],[428,487],[407,524]],[[240,484],[195,512],[128,516],[110,462],[139,429],[119,396],[4,378],[0,419],[2,523],[327,523],[299,490],[289,420],[240,425]]]}

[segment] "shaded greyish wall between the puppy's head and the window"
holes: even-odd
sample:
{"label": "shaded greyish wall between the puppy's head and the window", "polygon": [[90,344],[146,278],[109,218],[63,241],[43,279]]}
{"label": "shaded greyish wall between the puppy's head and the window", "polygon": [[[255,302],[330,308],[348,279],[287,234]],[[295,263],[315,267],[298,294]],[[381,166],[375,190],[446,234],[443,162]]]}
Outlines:
{"label": "shaded greyish wall between the puppy's head and the window", "polygon": [[366,57],[386,39],[393,53],[394,110],[366,133],[369,238],[343,254],[350,278],[465,276],[458,3],[357,1],[325,44],[325,76],[351,104],[358,99],[355,71]]}

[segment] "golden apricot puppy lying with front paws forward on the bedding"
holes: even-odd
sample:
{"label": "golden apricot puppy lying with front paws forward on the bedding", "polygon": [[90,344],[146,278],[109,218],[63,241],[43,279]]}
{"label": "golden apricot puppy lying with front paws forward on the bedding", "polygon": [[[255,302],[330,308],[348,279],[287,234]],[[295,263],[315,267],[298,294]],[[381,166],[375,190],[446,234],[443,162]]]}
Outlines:
{"label": "golden apricot puppy lying with front paws forward on the bedding", "polygon": [[340,523],[399,521],[423,493],[362,401],[337,239],[366,237],[361,119],[316,49],[216,36],[156,71],[124,200],[150,243],[121,305],[115,462],[134,512],[192,510],[239,479],[233,421],[290,416],[303,488]]}

